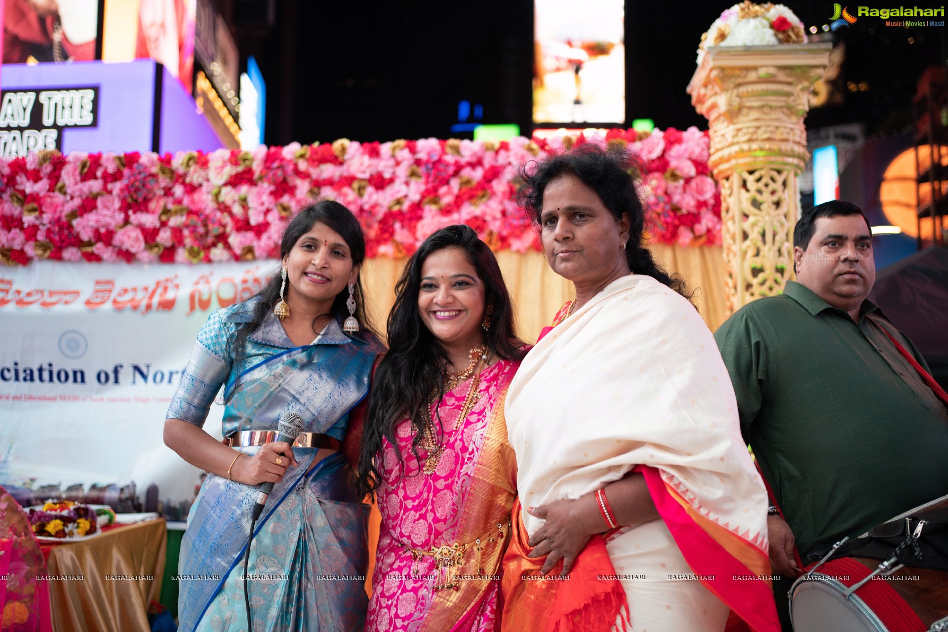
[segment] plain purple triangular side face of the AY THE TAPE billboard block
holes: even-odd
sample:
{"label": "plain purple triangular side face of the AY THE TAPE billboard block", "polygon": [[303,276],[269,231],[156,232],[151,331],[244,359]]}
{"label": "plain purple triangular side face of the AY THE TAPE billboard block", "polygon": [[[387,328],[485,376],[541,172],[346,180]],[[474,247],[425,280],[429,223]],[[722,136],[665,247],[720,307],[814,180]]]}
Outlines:
{"label": "plain purple triangular side face of the AY THE TAPE billboard block", "polygon": [[194,99],[181,82],[174,79],[167,69],[162,70],[159,153],[195,150],[208,153],[224,147],[208,119],[197,113]]}

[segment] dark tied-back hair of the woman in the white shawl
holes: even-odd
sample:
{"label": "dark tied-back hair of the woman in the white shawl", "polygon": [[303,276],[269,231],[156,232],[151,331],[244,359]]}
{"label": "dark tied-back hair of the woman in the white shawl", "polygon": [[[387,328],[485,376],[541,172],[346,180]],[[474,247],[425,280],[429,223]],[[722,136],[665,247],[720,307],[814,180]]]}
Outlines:
{"label": "dark tied-back hair of the woman in the white shawl", "polygon": [[[533,168],[536,165],[536,169]],[[626,150],[606,148],[596,143],[584,143],[566,153],[551,155],[539,163],[530,162],[520,169],[523,185],[517,191],[517,203],[526,210],[539,226],[543,210],[543,191],[561,175],[572,174],[592,189],[612,216],[621,220],[629,217],[629,241],[626,242],[626,260],[635,274],[647,275],[691,299],[680,274],[669,275],[652,258],[646,247],[644,231],[646,212],[635,190],[641,169]]]}

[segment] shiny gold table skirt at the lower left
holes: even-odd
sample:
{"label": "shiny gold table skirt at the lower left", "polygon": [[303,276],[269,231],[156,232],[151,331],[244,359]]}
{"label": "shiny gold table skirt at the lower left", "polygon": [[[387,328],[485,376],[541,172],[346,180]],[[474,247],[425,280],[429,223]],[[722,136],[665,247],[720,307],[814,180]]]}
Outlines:
{"label": "shiny gold table skirt at the lower left", "polygon": [[[152,520],[48,548],[53,630],[149,632],[148,605],[158,601],[165,571],[165,531],[164,520]],[[135,576],[146,579],[128,579]]]}

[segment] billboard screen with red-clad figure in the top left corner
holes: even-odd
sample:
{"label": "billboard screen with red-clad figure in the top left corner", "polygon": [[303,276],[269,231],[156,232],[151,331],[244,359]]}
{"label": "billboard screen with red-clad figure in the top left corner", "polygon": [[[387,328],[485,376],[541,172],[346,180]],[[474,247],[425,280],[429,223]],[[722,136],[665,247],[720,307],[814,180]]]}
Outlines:
{"label": "billboard screen with red-clad figure in the top left corner", "polygon": [[99,0],[6,0],[3,63],[96,59]]}

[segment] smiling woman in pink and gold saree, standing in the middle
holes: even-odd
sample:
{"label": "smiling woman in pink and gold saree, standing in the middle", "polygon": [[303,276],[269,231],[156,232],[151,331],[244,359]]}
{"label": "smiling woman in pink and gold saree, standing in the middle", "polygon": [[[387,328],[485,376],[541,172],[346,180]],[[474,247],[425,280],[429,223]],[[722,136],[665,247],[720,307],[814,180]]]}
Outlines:
{"label": "smiling woman in pink and gold saree, standing in the middle", "polygon": [[396,294],[359,462],[382,515],[366,630],[494,630],[517,489],[503,398],[526,348],[469,226],[428,237]]}

